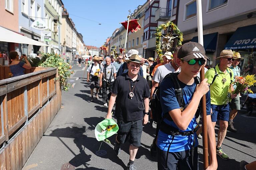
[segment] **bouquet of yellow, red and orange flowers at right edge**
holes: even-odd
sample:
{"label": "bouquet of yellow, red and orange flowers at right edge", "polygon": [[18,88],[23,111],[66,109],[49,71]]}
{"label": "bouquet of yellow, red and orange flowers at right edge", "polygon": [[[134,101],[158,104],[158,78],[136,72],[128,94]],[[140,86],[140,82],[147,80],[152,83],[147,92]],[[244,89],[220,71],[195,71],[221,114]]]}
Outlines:
{"label": "bouquet of yellow, red and orange flowers at right edge", "polygon": [[[253,93],[251,89],[249,89],[251,86],[253,86],[256,83],[255,75],[245,75],[243,76],[235,76],[235,81],[232,82],[233,85],[236,85],[236,88],[234,90],[233,94],[239,94],[239,93]],[[226,104],[231,102],[231,95],[226,99]]]}

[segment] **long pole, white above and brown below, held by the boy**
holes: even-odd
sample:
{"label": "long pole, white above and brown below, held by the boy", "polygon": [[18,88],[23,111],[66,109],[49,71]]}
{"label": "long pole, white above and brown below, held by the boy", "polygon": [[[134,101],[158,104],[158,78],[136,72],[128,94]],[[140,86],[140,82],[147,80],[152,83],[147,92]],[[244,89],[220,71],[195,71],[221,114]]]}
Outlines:
{"label": "long pole, white above and brown below, held by the boy", "polygon": [[[202,1],[196,0],[197,6],[197,29],[198,29],[198,42],[203,46],[203,19],[202,19]],[[204,79],[204,65],[202,65],[200,71],[200,80]],[[201,99],[201,107],[202,107],[202,119],[203,119],[203,160],[204,160],[204,169],[209,166],[208,159],[208,135],[207,135],[207,123],[206,123],[206,98],[205,95]]]}

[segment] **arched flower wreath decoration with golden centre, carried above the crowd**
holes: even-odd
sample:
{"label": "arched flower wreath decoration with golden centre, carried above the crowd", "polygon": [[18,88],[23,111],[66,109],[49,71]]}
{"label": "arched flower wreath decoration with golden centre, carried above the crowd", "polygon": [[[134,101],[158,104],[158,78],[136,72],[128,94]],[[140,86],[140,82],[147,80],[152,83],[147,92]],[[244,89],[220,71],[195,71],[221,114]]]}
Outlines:
{"label": "arched flower wreath decoration with golden centre, carried above the crowd", "polygon": [[[163,41],[160,42],[162,35],[162,30],[166,30],[168,27],[171,27],[173,32],[177,35],[176,37],[172,36],[172,34],[167,34],[164,36]],[[183,42],[183,33],[180,32],[179,28],[171,21],[167,22],[166,24],[161,24],[156,28],[156,53],[159,57],[163,55],[163,49],[165,51],[169,51],[170,48],[173,46],[173,39],[177,38],[178,43],[177,45],[182,45]]]}

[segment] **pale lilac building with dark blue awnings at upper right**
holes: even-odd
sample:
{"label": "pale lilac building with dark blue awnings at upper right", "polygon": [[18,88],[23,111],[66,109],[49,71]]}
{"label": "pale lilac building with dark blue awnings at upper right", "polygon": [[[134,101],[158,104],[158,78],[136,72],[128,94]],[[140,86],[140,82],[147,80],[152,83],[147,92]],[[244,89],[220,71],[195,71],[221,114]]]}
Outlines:
{"label": "pale lilac building with dark blue awnings at upper right", "polygon": [[[215,58],[225,48],[239,51],[245,57],[241,67],[247,66],[249,59],[255,61],[256,7],[251,5],[253,3],[253,0],[246,3],[239,0],[202,1],[204,48],[211,58],[209,65],[216,65]],[[198,41],[196,1],[180,1],[179,13],[178,27],[184,34],[184,42]]]}

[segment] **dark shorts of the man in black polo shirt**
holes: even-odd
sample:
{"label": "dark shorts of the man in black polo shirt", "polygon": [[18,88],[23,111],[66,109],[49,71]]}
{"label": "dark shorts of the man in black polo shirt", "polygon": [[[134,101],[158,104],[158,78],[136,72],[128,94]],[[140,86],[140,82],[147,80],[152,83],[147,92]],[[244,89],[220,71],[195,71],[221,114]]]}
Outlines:
{"label": "dark shorts of the man in black polo shirt", "polygon": [[119,130],[117,131],[117,140],[123,144],[128,138],[130,145],[140,146],[140,139],[142,134],[142,119],[137,121],[124,122],[117,120]]}

